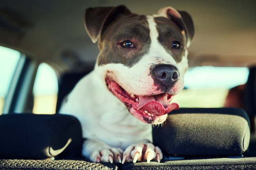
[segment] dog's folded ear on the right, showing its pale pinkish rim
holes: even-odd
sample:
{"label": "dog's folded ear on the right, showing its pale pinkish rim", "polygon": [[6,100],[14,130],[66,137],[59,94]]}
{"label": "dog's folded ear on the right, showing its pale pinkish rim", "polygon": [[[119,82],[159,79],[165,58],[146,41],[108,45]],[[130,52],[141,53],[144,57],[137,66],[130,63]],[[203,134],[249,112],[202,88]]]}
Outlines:
{"label": "dog's folded ear on the right, showing its pale pinkish rim", "polygon": [[186,11],[177,11],[172,7],[165,7],[158,11],[159,15],[164,15],[172,20],[186,34],[186,46],[189,47],[195,35],[193,20]]}

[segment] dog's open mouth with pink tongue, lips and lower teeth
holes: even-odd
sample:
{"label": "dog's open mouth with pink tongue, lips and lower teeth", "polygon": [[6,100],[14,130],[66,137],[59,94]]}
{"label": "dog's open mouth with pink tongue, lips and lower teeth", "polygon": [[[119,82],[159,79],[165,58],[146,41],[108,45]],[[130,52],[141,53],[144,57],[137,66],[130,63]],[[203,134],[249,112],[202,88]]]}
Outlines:
{"label": "dog's open mouth with pink tongue, lips and lower teeth", "polygon": [[[171,103],[173,95],[162,93],[153,96],[137,96],[128,93],[115,81],[106,78],[108,89],[115,95],[121,102],[123,102],[133,116],[146,123],[157,123],[155,120],[162,123],[161,116],[171,112],[172,110],[179,109],[177,103]],[[164,120],[163,120],[164,121]]]}

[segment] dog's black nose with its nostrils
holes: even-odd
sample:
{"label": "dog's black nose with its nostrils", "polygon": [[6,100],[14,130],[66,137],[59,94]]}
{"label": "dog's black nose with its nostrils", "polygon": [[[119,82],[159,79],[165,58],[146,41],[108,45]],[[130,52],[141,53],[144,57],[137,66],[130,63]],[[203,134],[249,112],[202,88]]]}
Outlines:
{"label": "dog's black nose with its nostrils", "polygon": [[158,65],[153,70],[156,80],[166,88],[179,79],[179,72],[173,65]]}

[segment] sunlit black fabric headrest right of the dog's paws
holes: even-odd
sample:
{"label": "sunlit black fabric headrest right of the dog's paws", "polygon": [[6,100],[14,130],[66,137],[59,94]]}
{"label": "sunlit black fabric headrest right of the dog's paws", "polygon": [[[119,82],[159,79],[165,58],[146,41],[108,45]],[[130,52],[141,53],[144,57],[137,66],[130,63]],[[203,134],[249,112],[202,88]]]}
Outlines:
{"label": "sunlit black fabric headrest right of the dog's paws", "polygon": [[236,108],[181,108],[153,128],[153,143],[171,155],[239,155],[249,139],[249,118]]}

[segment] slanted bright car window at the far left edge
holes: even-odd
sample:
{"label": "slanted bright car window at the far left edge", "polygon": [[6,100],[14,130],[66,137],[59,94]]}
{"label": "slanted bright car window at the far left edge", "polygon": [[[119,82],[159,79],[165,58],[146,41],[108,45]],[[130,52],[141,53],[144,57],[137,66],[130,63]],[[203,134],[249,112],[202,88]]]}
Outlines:
{"label": "slanted bright car window at the far left edge", "polygon": [[0,46],[0,114],[19,59],[20,52]]}

